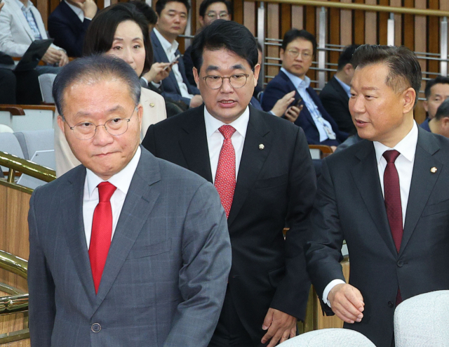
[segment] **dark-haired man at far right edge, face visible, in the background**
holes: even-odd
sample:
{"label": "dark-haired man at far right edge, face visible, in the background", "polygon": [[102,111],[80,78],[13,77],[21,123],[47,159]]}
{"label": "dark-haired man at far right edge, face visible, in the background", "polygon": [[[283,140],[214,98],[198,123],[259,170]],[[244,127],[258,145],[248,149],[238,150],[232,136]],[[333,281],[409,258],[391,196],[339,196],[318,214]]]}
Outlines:
{"label": "dark-haired man at far right edge, face visible, in the background", "polygon": [[426,100],[422,105],[427,112],[427,118],[420,124],[422,129],[430,131],[429,120],[435,117],[436,110],[446,98],[449,98],[449,78],[438,76],[426,83],[424,89]]}

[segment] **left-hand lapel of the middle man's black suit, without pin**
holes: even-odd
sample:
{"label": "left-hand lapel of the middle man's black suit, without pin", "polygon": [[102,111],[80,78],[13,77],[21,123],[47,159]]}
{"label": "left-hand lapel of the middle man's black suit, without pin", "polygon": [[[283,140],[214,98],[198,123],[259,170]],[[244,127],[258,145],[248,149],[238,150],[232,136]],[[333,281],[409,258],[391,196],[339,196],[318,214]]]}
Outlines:
{"label": "left-hand lapel of the middle man's black suit, without pin", "polygon": [[187,169],[213,183],[204,123],[204,105],[192,111],[182,130],[184,133],[180,136],[179,144],[187,162]]}

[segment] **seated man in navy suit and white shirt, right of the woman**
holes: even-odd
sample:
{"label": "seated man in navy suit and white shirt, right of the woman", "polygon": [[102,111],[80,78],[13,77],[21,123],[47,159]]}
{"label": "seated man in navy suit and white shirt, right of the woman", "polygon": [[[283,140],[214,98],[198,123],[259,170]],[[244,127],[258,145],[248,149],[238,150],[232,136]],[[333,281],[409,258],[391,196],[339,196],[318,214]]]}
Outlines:
{"label": "seated man in navy suit and white shirt, right of the woman", "polygon": [[[154,62],[170,63],[177,55],[181,55],[176,38],[185,31],[189,8],[187,0],[157,1],[158,19],[151,34]],[[172,65],[170,74],[162,81],[162,96],[175,101],[182,100],[187,107],[197,107],[203,103],[199,89],[187,81],[182,59],[177,59],[177,64]]]}

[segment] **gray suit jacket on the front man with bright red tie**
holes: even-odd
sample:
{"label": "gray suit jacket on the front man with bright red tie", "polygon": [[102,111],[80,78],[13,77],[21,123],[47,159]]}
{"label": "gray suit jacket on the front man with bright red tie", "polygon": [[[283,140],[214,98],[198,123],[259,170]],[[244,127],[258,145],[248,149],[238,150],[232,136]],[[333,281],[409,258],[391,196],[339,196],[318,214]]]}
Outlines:
{"label": "gray suit jacket on the front man with bright red tie", "polygon": [[142,148],[95,295],[85,177],[77,166],[30,200],[32,346],[207,346],[231,266],[213,185]]}

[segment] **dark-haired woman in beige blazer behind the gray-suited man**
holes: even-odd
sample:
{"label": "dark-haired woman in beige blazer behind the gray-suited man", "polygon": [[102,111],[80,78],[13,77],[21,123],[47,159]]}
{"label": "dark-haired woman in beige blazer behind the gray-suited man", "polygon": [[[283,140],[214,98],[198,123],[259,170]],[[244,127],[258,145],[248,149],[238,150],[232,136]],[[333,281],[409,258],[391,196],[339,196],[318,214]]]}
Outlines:
{"label": "dark-haired woman in beige blazer behind the gray-suited man", "polygon": [[[140,76],[152,64],[147,20],[132,4],[121,3],[105,8],[92,20],[86,33],[83,53],[86,56],[101,53],[114,55],[125,60]],[[167,116],[162,96],[145,88],[142,88],[141,93],[143,116],[140,138],[143,138],[151,124]],[[55,126],[55,156],[58,177],[80,164],[58,126]]]}

